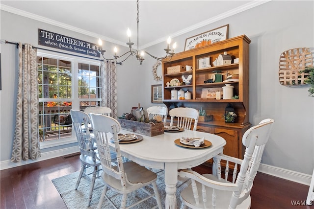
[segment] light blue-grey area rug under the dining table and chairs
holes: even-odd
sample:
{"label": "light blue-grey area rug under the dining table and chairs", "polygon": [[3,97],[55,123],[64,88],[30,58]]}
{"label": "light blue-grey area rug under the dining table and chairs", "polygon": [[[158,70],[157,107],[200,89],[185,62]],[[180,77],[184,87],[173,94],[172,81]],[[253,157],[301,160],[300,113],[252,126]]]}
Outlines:
{"label": "light blue-grey area rug under the dining table and chairs", "polygon": [[[66,176],[52,179],[52,183],[56,187],[57,191],[60,193],[60,196],[62,197],[68,209],[96,209],[99,202],[99,198],[101,196],[101,193],[104,187],[102,179],[101,178],[96,179],[96,182],[95,182],[96,189],[94,189],[93,191],[91,205],[90,207],[87,207],[90,180],[87,177],[83,177],[80,181],[78,189],[75,190],[74,187],[78,180],[78,174],[79,172],[75,172]],[[163,172],[157,173],[157,175],[160,177],[160,178],[157,178],[157,186],[158,186],[158,191],[161,198],[162,208],[165,208],[164,204],[165,204],[166,193],[165,193],[165,185],[163,181],[163,174],[164,174]],[[179,178],[178,179],[179,188],[177,188],[177,208],[180,208],[181,206],[180,192],[183,190],[183,188],[187,186],[187,183],[184,183],[186,179],[183,179],[181,177],[178,177],[178,178]],[[147,188],[147,189],[153,190],[152,188]],[[107,191],[108,196],[112,196],[114,194],[115,192],[111,190]],[[143,198],[146,196],[147,194],[143,192],[142,190],[137,191],[137,196],[135,196],[134,193],[129,194],[127,198],[127,206],[131,205],[133,202],[137,202],[138,198]],[[116,197],[113,198],[114,204],[118,207],[120,206],[121,197],[122,197],[121,195],[117,195]],[[148,208],[152,208],[155,205],[157,205],[156,200],[153,198],[150,198],[144,201],[143,203],[137,206],[134,206],[132,209],[148,209]],[[105,199],[102,205],[102,209],[112,209],[112,208],[113,208],[112,205]]]}

